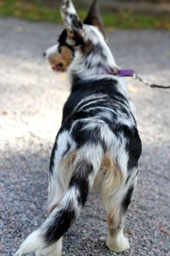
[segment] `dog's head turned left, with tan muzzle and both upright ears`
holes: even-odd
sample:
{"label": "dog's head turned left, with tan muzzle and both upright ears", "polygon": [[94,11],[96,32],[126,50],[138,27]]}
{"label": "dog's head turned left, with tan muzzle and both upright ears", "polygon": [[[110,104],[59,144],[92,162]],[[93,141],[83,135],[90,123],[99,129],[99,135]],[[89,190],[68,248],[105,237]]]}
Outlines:
{"label": "dog's head turned left, with tan muzzle and both upright ears", "polygon": [[99,15],[98,0],[94,0],[83,23],[79,20],[71,1],[62,1],[61,15],[65,30],[60,34],[58,44],[50,47],[44,53],[55,72],[65,72],[74,58],[77,46],[83,44],[83,25],[95,26],[105,38],[105,28]]}

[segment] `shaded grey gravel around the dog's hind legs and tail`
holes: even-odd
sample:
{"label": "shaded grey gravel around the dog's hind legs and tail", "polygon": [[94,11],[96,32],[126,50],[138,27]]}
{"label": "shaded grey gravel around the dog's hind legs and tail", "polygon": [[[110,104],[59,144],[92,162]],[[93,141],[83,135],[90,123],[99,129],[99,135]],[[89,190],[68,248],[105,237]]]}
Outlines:
{"label": "shaded grey gravel around the dog's hind legs and tail", "polygon": [[[48,193],[48,160],[50,148],[22,152],[3,152],[0,161],[3,209],[1,237],[2,255],[14,253],[20,242],[42,224],[46,216]],[[162,154],[162,148],[164,153]],[[150,155],[150,151],[153,153]],[[169,211],[169,147],[144,145],[139,164],[139,183],[133,205],[127,214],[126,233],[130,238],[131,253],[122,255],[168,255],[170,229]],[[159,157],[158,157],[159,156]],[[147,164],[150,160],[150,166]],[[162,166],[161,170],[159,166]],[[147,189],[145,189],[147,187]],[[94,207],[95,206],[95,207]],[[162,231],[164,229],[164,231]],[[99,194],[91,193],[86,207],[71,230],[65,235],[67,255],[111,255],[105,247],[105,212]],[[74,253],[72,253],[74,252]],[[140,253],[140,254],[139,254]],[[159,253],[159,254],[154,254]]]}

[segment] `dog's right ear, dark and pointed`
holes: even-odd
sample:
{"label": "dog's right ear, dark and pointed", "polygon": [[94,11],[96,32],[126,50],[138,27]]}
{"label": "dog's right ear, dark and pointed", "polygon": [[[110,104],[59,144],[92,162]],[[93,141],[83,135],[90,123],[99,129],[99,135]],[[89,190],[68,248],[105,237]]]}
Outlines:
{"label": "dog's right ear, dark and pointed", "polygon": [[90,6],[90,9],[88,11],[88,16],[83,22],[87,25],[97,26],[99,28],[99,31],[103,34],[105,37],[105,27],[103,25],[101,16],[99,14],[99,7],[98,7],[98,0],[94,0]]}

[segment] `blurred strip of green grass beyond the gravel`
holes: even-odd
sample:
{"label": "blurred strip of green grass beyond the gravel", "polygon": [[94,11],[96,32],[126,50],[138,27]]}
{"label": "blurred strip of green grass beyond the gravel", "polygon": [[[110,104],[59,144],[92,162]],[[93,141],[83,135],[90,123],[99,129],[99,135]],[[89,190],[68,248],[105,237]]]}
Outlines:
{"label": "blurred strip of green grass beyond the gravel", "polygon": [[[79,10],[79,15],[84,18],[86,11]],[[31,21],[48,21],[61,23],[59,9],[46,7],[41,1],[30,3],[24,0],[0,0],[0,15],[14,16]],[[130,12],[111,12],[102,15],[105,26],[108,28],[163,28],[170,30],[170,17],[156,15],[136,15]]]}

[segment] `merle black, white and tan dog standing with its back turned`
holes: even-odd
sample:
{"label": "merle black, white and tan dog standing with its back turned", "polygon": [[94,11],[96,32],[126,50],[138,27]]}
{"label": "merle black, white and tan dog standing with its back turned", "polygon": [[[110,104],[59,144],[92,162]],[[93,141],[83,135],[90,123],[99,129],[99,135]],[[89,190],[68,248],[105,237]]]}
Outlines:
{"label": "merle black, white and tan dog standing with its back turned", "polygon": [[59,64],[69,52],[62,68],[51,65],[55,71],[68,67],[71,95],[50,159],[48,218],[15,256],[31,252],[61,256],[62,236],[80,216],[95,183],[106,212],[107,247],[118,253],[130,247],[123,224],[142,151],[133,104],[126,85],[114,73],[118,67],[99,29],[100,19],[82,23],[71,0],[62,1],[61,15],[65,30],[46,55],[55,54]]}

